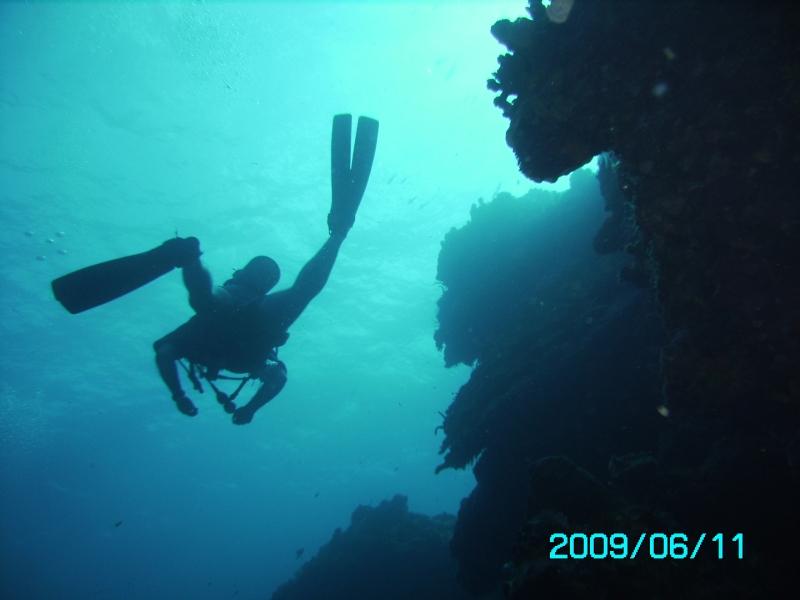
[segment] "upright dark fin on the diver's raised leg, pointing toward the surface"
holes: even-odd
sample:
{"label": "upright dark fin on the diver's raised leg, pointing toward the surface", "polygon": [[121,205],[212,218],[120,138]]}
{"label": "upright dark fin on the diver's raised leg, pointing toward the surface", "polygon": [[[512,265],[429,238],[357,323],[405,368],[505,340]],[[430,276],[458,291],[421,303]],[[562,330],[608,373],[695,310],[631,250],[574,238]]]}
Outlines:
{"label": "upright dark fin on the diver's raised leg, pointing toward the surface", "polygon": [[356,140],[350,160],[350,135],[353,117],[349,114],[333,117],[331,135],[331,212],[328,229],[331,234],[345,234],[353,226],[364,190],[367,187],[375,147],[378,143],[378,121],[359,117]]}

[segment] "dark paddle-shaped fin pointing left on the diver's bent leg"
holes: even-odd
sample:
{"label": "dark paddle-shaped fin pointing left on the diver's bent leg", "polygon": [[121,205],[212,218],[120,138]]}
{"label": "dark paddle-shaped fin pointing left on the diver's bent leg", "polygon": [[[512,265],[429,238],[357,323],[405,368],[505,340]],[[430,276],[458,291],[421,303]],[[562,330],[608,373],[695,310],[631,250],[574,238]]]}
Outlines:
{"label": "dark paddle-shaped fin pointing left on the diver's bent leg", "polygon": [[78,269],[54,279],[53,295],[77,314],[155,281],[200,255],[196,238],[174,238],[152,250]]}

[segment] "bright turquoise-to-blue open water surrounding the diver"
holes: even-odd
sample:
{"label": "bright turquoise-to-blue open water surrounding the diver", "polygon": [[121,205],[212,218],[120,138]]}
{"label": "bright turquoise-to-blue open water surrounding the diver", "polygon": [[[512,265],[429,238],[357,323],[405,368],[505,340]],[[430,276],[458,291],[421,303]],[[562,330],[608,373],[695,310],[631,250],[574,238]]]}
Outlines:
{"label": "bright turquoise-to-blue open water surrounding the diver", "polygon": [[[524,8],[0,4],[0,596],[265,598],[358,504],[458,509],[471,473],[433,475],[468,375],[432,341],[436,257],[528,185],[485,89],[489,27]],[[156,374],[191,315],[177,272],[77,316],[52,299],[176,232],[217,282],[269,254],[289,285],[327,235],[339,112],[381,121],[372,178],[249,426],[208,393],[179,414]]]}

